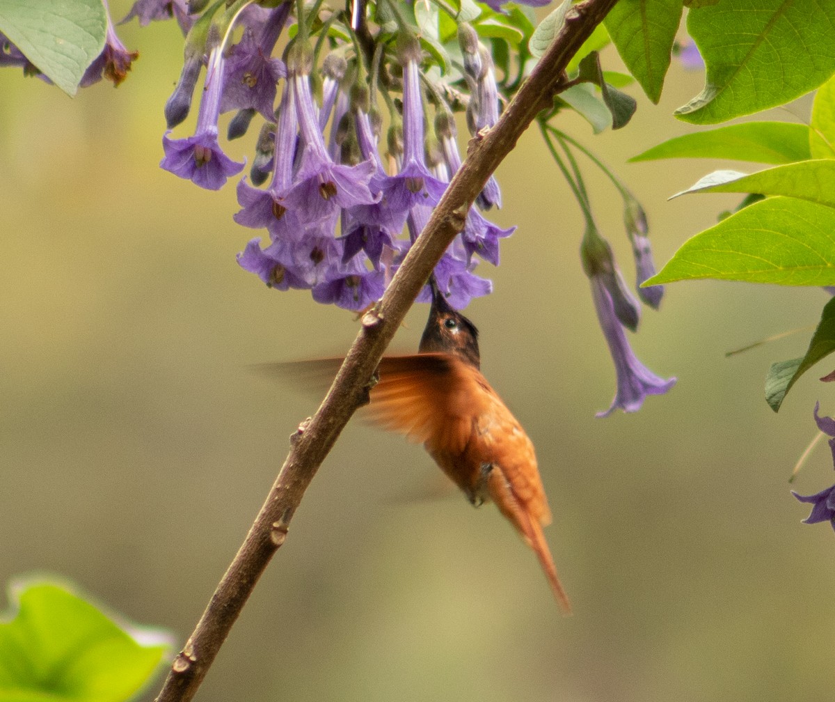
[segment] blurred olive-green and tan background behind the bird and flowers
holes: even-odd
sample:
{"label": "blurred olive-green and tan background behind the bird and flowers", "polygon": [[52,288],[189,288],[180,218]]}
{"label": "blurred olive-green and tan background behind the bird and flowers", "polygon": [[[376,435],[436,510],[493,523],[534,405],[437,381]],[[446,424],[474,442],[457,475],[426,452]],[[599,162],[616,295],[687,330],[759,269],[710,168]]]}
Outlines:
{"label": "blurred olive-green and tan background behind the bird and flowers", "polygon": [[[129,3],[112,6],[119,18]],[[343,353],[357,323],[240,270],[253,233],[231,220],[235,181],[202,191],[158,167],[178,28],[119,33],[141,53],[119,89],[68,99],[0,72],[0,580],[60,573],[181,644],[316,407],[247,364]],[[625,130],[561,123],[644,202],[659,264],[738,201],[666,201],[716,164],[625,164],[685,133],[671,111],[700,89],[701,74],[674,66],[660,106],[630,89],[640,108]],[[227,153],[251,158],[251,140]],[[631,280],[620,200],[586,173]],[[480,267],[495,293],[467,313],[484,373],[537,446],[574,616],[497,511],[438,496],[420,447],[352,423],[198,699],[831,699],[835,535],[800,523],[787,477],[815,399],[830,414],[835,403],[814,372],[779,416],[762,397],[768,365],[801,355],[808,334],[724,357],[816,323],[826,296],[669,287],[632,341],[676,388],[597,420],[615,378],[579,267],[579,211],[533,130],[498,179],[495,220],[519,230],[500,268]],[[425,313],[393,350],[417,347]],[[822,445],[796,489],[830,485],[831,468]]]}

